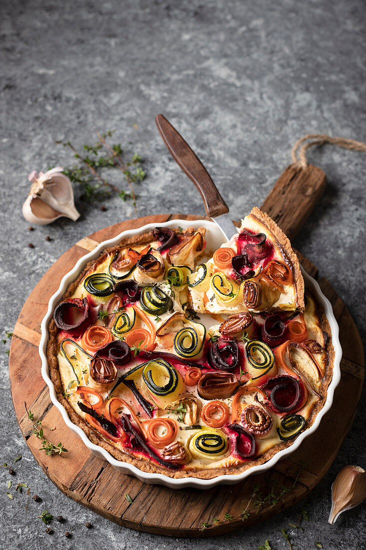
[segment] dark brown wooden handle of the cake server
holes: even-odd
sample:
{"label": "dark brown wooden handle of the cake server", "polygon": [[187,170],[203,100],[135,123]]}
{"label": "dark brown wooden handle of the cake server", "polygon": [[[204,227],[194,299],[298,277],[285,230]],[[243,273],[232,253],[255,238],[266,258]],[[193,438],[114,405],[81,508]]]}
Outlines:
{"label": "dark brown wooden handle of the cake server", "polygon": [[201,193],[207,216],[214,218],[229,212],[206,168],[178,131],[162,114],[156,116],[155,122],[171,156]]}

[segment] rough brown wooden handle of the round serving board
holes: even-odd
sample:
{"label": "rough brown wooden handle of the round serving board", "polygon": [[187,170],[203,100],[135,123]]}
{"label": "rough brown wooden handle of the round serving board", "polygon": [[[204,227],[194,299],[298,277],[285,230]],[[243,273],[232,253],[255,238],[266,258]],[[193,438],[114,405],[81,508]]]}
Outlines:
{"label": "rough brown wooden handle of the round serving board", "polygon": [[326,185],[323,170],[309,164],[301,168],[290,164],[270,191],[260,210],[274,219],[292,240],[320,199]]}

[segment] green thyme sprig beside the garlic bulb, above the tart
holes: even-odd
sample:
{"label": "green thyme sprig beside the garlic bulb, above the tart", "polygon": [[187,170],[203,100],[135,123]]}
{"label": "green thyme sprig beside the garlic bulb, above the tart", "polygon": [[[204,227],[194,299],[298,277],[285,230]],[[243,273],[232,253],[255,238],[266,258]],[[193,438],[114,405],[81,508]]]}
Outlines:
{"label": "green thyme sprig beside the garlic bulb, above the tart", "polygon": [[[107,131],[104,134],[97,132],[98,140],[95,144],[84,145],[86,154],[81,155],[70,141],[56,141],[63,147],[69,147],[74,153],[76,164],[70,168],[64,169],[71,182],[77,183],[84,191],[84,199],[88,202],[104,199],[116,193],[123,201],[131,199],[136,211],[136,194],[133,183],[142,182],[146,173],[142,169],[142,158],[134,153],[129,160],[123,160],[124,151],[121,144],[109,145],[106,138],[112,137],[113,131]],[[130,193],[117,187],[103,178],[101,169],[118,168],[124,175],[124,180],[130,188]]]}

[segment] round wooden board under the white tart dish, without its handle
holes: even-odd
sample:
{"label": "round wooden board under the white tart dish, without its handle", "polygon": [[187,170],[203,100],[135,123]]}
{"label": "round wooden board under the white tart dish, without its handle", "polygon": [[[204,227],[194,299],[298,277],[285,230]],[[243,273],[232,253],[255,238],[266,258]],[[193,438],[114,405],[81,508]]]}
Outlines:
{"label": "round wooden board under the white tart dish, without its handle", "polygon": [[[124,229],[141,227],[146,223],[162,223],[168,219],[197,219],[197,216],[159,215],[122,222],[102,229],[86,239],[86,243],[118,235]],[[66,427],[58,410],[49,399],[48,387],[41,377],[41,359],[36,346],[36,335],[51,295],[60,280],[86,252],[74,245],[48,270],[30,294],[16,323],[9,357],[10,386],[16,418],[27,445],[45,474],[66,495],[120,525],[140,531],[173,536],[211,536],[229,533],[262,521],[298,502],[320,481],[328,470],[346,436],[361,395],[364,373],[361,338],[342,300],[328,281],[320,279],[324,294],[330,299],[340,324],[343,349],[341,382],[336,389],[334,404],[320,423],[318,430],[307,437],[301,447],[281,460],[267,474],[247,478],[234,486],[219,486],[208,491],[147,485],[132,476],[119,474],[108,463],[96,458]],[[300,255],[304,268],[318,276],[315,268]],[[29,338],[30,341],[27,341]],[[42,420],[45,435],[51,441],[62,441],[68,448],[64,456],[47,456],[39,450],[39,440],[31,432],[32,421],[25,414],[27,408]],[[334,425],[337,424],[337,430]],[[324,445],[324,441],[327,442]],[[317,449],[317,452],[314,452]],[[306,462],[297,482],[296,477]],[[290,492],[274,506],[260,506],[258,513],[242,520],[240,514],[253,493],[253,483],[259,483],[264,494],[269,480],[275,478]],[[294,485],[295,483],[295,485]],[[130,494],[133,502],[125,498]],[[229,518],[229,514],[232,519]],[[218,519],[219,521],[214,521]],[[206,524],[202,530],[202,524]]]}

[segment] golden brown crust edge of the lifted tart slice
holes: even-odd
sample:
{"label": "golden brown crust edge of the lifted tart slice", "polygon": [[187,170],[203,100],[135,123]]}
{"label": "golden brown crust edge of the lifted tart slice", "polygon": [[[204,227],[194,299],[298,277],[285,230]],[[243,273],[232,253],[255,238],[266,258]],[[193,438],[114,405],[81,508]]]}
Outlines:
{"label": "golden brown crust edge of the lifted tart slice", "polygon": [[[252,208],[249,217],[252,217],[255,221],[259,221],[268,228],[273,237],[278,241],[282,254],[285,259],[290,261],[290,265],[293,268],[293,280],[296,289],[296,307],[300,311],[303,311],[304,304],[304,279],[300,270],[300,263],[295,252],[292,250],[290,240],[286,237],[285,233],[278,227],[278,225],[271,219],[268,214],[259,210],[257,206]],[[287,263],[287,262],[286,262]]]}

